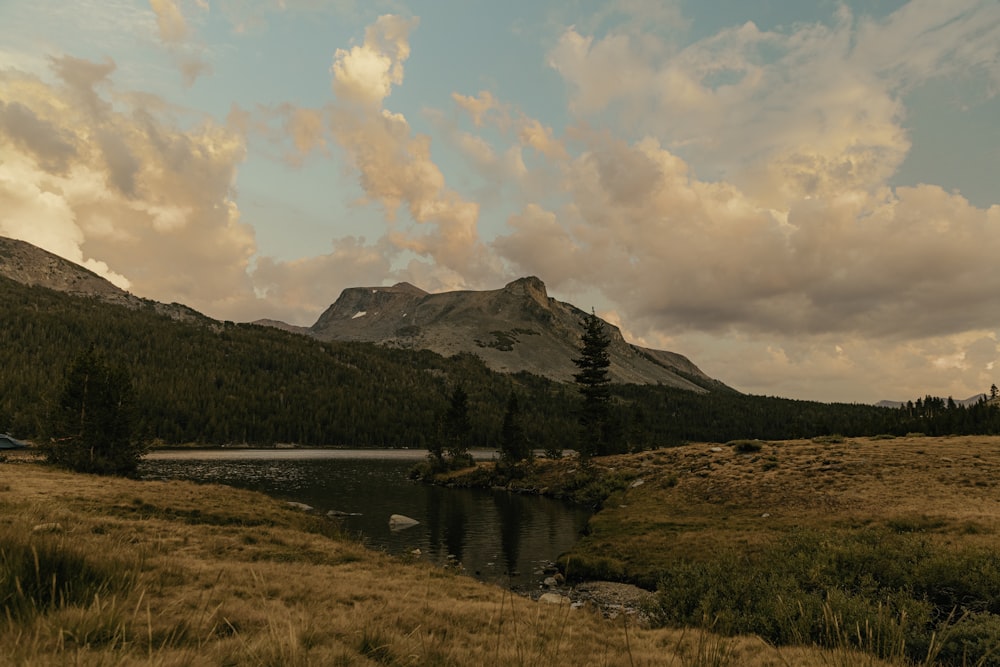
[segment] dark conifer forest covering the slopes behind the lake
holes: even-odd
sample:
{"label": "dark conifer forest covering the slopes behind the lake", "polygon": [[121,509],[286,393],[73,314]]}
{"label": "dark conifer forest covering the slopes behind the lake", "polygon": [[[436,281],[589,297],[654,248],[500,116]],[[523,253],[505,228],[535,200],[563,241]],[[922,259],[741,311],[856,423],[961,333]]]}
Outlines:
{"label": "dark conifer forest covering the slopes behind the lake", "polygon": [[[425,448],[455,387],[468,394],[470,446],[495,447],[510,396],[532,447],[577,442],[577,387],[489,370],[477,357],[319,342],[252,324],[177,321],[0,278],[0,432],[49,437],[73,360],[98,350],[131,379],[136,435],[155,445]],[[1000,433],[1000,409],[926,396],[901,408],[735,391],[612,385],[623,449],[686,441]]]}

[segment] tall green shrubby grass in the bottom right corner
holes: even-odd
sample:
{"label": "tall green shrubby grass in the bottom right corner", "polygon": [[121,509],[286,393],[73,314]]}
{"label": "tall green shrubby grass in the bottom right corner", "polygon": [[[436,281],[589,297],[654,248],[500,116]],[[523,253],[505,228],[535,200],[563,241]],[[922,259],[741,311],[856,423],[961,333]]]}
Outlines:
{"label": "tall green shrubby grass in the bottom right corner", "polygon": [[[680,561],[662,575],[659,619],[712,619],[777,645],[859,649],[890,662],[1000,665],[1000,558],[935,549],[869,528],[807,532],[756,554]],[[930,662],[928,662],[930,661]]]}

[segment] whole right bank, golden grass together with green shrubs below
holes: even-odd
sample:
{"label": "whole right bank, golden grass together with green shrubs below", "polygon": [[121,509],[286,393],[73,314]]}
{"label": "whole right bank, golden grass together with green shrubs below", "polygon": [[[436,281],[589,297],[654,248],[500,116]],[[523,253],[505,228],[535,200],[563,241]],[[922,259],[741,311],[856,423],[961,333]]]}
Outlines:
{"label": "whole right bank, golden grass together with green shrubs below", "polygon": [[1000,438],[831,437],[540,461],[513,486],[598,503],[567,575],[657,590],[664,625],[1000,665],[998,473]]}

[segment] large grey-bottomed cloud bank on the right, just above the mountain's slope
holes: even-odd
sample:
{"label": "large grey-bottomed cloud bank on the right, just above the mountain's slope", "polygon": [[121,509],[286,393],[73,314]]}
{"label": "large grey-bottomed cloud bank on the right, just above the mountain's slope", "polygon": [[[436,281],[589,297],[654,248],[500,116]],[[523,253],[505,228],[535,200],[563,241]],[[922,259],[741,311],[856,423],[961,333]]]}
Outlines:
{"label": "large grey-bottomed cloud bank on the right, just above the mountain's slope", "polygon": [[523,273],[599,287],[636,329],[905,339],[997,323],[1000,206],[919,186],[776,211],[655,139],[577,137],[558,215],[529,206],[494,247]]}

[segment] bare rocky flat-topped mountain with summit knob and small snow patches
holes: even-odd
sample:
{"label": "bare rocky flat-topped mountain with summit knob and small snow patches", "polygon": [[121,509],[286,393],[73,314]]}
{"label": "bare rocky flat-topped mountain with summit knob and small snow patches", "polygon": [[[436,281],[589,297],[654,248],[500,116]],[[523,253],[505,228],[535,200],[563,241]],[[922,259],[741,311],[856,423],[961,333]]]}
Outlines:
{"label": "bare rocky flat-topped mountain with summit knob and small snow patches", "polygon": [[[577,371],[573,359],[579,356],[586,316],[576,306],[550,297],[535,277],[498,290],[437,294],[399,283],[345,289],[309,333],[324,341],[366,341],[443,356],[471,353],[495,371],[528,371],[569,382]],[[604,327],[611,339],[609,371],[614,382],[699,393],[732,391],[686,357],[633,345],[618,327],[607,322]]]}

